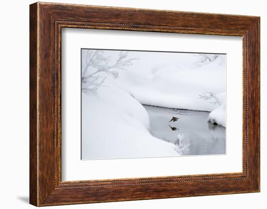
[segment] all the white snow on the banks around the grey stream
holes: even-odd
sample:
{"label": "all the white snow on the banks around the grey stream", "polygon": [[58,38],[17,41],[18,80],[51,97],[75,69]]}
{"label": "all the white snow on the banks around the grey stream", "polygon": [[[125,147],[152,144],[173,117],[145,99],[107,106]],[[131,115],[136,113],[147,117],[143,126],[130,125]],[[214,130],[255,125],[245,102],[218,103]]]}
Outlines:
{"label": "all the white snow on the banks around the grey stream", "polygon": [[[90,78],[82,93],[83,159],[178,156],[174,144],[150,134],[142,104],[208,111],[208,121],[226,127],[225,55],[151,53],[105,50],[89,54],[88,64],[83,51],[83,76]],[[204,92],[214,92],[217,104],[201,99]]]}

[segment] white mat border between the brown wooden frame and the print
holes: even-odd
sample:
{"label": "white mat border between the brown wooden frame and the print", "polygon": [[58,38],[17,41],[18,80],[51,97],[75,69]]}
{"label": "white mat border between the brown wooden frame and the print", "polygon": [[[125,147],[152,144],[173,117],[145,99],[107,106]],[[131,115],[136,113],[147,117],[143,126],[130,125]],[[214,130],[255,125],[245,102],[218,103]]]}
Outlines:
{"label": "white mat border between the brown wooden frame and the print", "polygon": [[[63,181],[242,172],[241,37],[72,28],[63,29],[62,45]],[[81,48],[226,53],[227,155],[81,161]]]}

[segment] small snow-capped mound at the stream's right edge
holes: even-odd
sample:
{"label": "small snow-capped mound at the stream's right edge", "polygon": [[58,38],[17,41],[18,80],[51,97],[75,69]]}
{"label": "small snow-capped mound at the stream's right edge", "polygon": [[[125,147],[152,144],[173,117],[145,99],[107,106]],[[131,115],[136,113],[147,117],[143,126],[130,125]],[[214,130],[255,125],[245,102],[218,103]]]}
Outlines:
{"label": "small snow-capped mound at the stream's right edge", "polygon": [[226,128],[226,100],[225,93],[216,96],[218,107],[209,114],[208,121]]}

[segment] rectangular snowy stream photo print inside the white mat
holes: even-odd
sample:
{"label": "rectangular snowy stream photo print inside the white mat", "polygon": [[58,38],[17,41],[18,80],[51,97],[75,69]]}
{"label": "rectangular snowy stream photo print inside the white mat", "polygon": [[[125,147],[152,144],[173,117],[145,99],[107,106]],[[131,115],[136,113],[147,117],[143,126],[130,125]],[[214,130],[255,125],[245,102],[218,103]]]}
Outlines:
{"label": "rectangular snowy stream photo print inside the white mat", "polygon": [[226,154],[226,54],[81,49],[82,160]]}

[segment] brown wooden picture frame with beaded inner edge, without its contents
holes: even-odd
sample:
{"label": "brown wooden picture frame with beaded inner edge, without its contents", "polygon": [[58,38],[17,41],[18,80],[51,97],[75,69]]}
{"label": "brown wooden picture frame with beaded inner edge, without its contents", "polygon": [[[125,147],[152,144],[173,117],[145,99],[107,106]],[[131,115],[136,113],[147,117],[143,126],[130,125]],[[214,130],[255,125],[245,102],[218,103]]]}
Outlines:
{"label": "brown wooden picture frame with beaded inner edge, without its contents", "polygon": [[[61,181],[61,29],[243,37],[242,173]],[[260,191],[260,17],[86,6],[30,5],[30,203],[35,206]]]}

